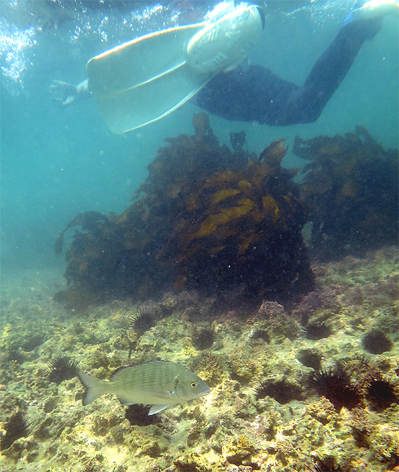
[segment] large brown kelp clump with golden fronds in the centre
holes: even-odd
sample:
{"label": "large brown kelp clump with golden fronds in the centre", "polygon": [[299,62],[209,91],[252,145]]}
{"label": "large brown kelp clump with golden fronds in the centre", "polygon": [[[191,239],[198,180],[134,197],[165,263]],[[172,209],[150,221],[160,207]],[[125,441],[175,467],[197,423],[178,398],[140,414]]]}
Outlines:
{"label": "large brown kelp clump with golden fronds in the centre", "polygon": [[242,133],[231,137],[234,152],[220,145],[206,114],[193,124],[194,136],[165,139],[123,214],[89,212],[67,225],[82,229],[67,251],[60,301],[80,308],[173,288],[292,301],[313,289],[306,207],[292,181],[298,169],[280,165],[284,140],[257,157],[242,149]]}

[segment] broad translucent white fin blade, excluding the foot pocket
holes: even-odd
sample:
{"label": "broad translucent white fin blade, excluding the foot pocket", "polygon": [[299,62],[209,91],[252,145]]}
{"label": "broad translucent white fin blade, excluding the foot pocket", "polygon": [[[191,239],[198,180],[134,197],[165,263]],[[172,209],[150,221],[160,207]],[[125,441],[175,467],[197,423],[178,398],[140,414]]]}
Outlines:
{"label": "broad translucent white fin blade, excluding the foot pocket", "polygon": [[90,59],[88,84],[114,133],[155,122],[189,100],[212,77],[187,67],[187,42],[203,25],[147,34]]}

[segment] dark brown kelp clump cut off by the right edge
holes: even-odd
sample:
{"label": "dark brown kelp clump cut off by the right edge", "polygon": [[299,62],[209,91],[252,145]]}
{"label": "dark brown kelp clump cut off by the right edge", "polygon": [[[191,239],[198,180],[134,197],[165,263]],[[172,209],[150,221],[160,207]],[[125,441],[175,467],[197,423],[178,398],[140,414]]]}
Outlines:
{"label": "dark brown kelp clump cut off by the right edge", "polygon": [[398,150],[384,150],[367,129],[344,136],[297,136],[293,152],[310,160],[302,193],[312,249],[326,260],[398,242]]}

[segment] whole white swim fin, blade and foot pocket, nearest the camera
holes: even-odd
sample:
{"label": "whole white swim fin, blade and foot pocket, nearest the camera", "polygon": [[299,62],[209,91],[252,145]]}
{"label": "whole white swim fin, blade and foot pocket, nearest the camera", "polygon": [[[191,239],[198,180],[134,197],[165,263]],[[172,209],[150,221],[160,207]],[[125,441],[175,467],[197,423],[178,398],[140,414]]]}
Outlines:
{"label": "whole white swim fin, blade and foot pocket, nearest the camera", "polygon": [[88,85],[109,129],[125,133],[187,102],[245,58],[264,27],[259,7],[232,2],[210,19],[146,34],[90,59]]}

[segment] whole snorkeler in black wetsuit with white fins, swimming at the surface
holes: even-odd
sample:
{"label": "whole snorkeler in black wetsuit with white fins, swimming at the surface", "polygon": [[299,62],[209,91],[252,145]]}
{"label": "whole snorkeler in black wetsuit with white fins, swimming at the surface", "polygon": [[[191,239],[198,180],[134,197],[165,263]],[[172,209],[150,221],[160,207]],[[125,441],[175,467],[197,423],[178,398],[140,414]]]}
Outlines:
{"label": "whole snorkeler in black wetsuit with white fins, swimming at the surface", "polygon": [[[304,85],[297,86],[261,65],[247,70],[239,65],[259,40],[265,18],[259,6],[231,4],[219,4],[207,22],[147,34],[96,56],[88,63],[88,79],[78,86],[53,81],[52,100],[70,105],[93,95],[115,133],[161,119],[187,100],[233,121],[315,122],[363,43],[380,31],[383,15],[399,11],[399,2],[392,0],[367,1],[352,11]],[[159,60],[152,58],[151,65],[157,67],[151,69],[148,60],[148,67],[142,66],[154,51]]]}

